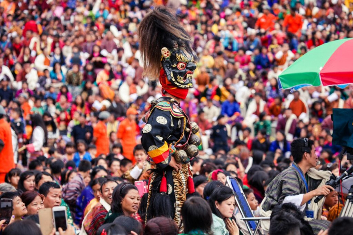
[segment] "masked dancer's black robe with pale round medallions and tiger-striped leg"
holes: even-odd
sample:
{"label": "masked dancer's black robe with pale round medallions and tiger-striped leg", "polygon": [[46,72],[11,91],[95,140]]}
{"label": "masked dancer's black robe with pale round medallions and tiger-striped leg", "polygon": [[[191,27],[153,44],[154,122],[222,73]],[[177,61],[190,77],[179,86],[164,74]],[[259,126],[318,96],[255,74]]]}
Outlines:
{"label": "masked dancer's black robe with pale round medallions and tiger-striped leg", "polygon": [[164,174],[167,178],[167,195],[171,205],[174,205],[174,221],[180,225],[181,206],[187,194],[189,163],[183,164],[178,172],[168,164],[173,157],[172,146],[178,149],[178,146],[187,142],[190,123],[180,105],[169,97],[158,99],[156,104],[150,107],[145,120],[146,125],[142,130],[141,142],[151,162],[156,165],[150,178],[146,219],[154,216],[153,202],[156,193],[159,193],[160,182]]}

